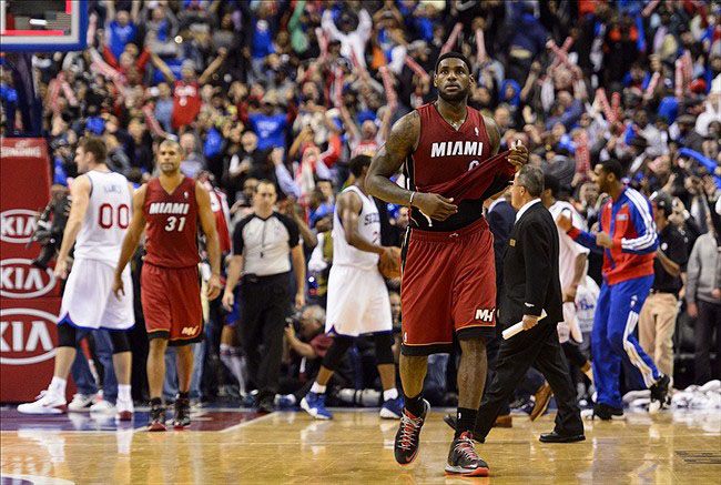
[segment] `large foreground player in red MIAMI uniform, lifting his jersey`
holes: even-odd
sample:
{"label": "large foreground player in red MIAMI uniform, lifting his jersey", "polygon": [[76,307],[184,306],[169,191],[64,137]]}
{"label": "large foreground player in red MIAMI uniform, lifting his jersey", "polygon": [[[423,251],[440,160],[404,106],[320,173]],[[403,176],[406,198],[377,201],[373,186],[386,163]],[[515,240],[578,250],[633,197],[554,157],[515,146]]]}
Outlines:
{"label": "large foreground player in red MIAMI uniform, lifting his jersey", "polygon": [[[471,434],[486,380],[485,339],[496,331],[492,235],[483,218],[483,202],[506,189],[514,171],[528,161],[528,151],[514,146],[505,166],[489,162],[489,169],[484,169],[498,153],[500,132],[490,118],[467,105],[473,82],[470,63],[463,54],[438,58],[434,75],[438,99],[396,122],[373,160],[367,189],[412,211],[404,244],[400,380],[405,408],[396,434],[396,461],[407,465],[418,453],[420,427],[430,408],[420,394],[427,357],[449,352],[455,332],[461,348],[458,425],[446,472],[487,476],[488,465],[476,454]],[[408,190],[389,180],[402,165]],[[423,191],[453,182],[476,166],[474,176],[487,180],[480,199],[454,204],[453,199]],[[494,176],[485,170],[494,170]],[[475,189],[478,192],[478,184]]]}

